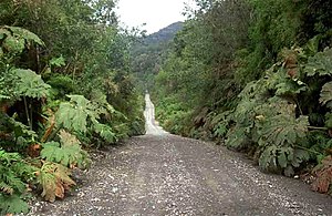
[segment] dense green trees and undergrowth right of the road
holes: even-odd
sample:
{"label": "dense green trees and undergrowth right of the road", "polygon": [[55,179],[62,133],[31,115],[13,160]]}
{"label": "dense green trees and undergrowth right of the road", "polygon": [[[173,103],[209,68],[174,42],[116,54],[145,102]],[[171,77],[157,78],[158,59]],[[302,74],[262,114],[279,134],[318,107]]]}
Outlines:
{"label": "dense green trees and undergrowth right of the road", "polygon": [[332,1],[196,0],[154,76],[163,126],[332,181]]}

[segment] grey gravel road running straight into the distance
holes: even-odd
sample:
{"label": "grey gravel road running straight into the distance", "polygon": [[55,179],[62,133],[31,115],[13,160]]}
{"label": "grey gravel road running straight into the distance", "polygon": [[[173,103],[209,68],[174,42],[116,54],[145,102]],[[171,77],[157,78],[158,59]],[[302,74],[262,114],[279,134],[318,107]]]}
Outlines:
{"label": "grey gravel road running straight into the distance", "polygon": [[241,154],[164,132],[146,95],[147,134],[96,152],[81,187],[29,215],[332,215],[301,181],[261,173]]}

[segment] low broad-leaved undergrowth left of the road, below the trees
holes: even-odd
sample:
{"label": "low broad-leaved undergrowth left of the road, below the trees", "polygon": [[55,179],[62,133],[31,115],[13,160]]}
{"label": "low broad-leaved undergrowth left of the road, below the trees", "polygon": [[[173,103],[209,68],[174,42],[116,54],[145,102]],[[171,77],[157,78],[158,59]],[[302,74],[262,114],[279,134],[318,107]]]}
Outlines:
{"label": "low broad-leaved undergrowth left of the road, below the trees", "polygon": [[[123,105],[120,92],[111,95],[96,86],[82,95],[70,75],[58,74],[46,82],[35,71],[22,69],[24,54],[43,47],[28,30],[0,28],[1,215],[27,213],[33,194],[48,202],[64,198],[76,185],[72,171],[90,167],[90,148],[144,131],[137,114],[142,106],[128,80],[118,81],[118,86],[112,83],[117,91],[126,90]],[[42,74],[48,76],[64,65],[64,58],[53,58]],[[110,99],[118,100],[115,104],[121,104],[124,113]]]}

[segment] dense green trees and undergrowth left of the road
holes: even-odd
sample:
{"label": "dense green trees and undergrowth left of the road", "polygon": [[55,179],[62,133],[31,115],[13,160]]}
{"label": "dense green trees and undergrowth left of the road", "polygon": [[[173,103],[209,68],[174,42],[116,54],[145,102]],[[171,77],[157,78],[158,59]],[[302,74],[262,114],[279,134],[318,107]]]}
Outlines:
{"label": "dense green trees and undergrowth left of the road", "polygon": [[113,0],[0,1],[0,214],[63,198],[89,151],[144,133],[129,74],[137,31]]}

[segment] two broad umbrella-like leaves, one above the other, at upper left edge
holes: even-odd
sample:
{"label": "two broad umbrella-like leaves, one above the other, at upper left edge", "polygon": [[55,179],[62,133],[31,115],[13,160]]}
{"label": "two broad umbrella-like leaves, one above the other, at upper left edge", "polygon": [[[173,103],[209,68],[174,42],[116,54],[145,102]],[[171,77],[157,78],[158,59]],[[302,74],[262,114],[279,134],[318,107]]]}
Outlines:
{"label": "two broad umbrella-like leaves, one above the other, at upper left edge", "polygon": [[31,48],[31,43],[42,45],[43,42],[32,32],[17,27],[2,27],[0,28],[0,99],[12,99],[20,96],[44,97],[50,89],[40,75],[31,70],[18,69],[11,65],[15,59],[27,48]]}

